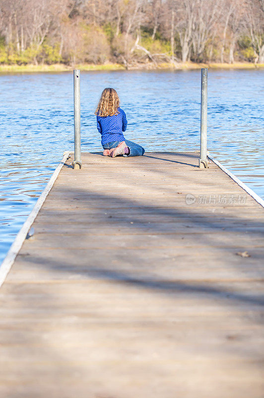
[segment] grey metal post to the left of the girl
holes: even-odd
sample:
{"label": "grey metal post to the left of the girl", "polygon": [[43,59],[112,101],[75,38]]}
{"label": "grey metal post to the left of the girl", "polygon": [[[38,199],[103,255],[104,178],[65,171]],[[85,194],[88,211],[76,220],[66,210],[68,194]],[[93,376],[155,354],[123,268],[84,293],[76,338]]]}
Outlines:
{"label": "grey metal post to the left of the girl", "polygon": [[74,162],[73,169],[81,169],[81,111],[80,111],[80,71],[73,71],[74,87]]}

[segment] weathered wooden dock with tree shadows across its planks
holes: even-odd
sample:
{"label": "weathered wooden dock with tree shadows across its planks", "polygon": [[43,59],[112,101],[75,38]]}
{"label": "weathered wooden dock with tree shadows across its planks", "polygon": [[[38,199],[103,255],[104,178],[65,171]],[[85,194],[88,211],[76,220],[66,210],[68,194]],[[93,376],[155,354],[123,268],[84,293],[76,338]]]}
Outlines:
{"label": "weathered wooden dock with tree shadows across its planks", "polygon": [[195,153],[71,162],[0,290],[0,397],[263,398],[263,207]]}

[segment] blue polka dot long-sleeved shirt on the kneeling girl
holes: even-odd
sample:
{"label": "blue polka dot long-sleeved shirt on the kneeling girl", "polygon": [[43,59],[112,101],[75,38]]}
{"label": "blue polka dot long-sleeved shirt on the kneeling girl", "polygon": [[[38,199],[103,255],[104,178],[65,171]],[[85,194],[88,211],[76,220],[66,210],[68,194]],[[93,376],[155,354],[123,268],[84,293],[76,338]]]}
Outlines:
{"label": "blue polka dot long-sleeved shirt on the kneeling girl", "polygon": [[96,116],[97,129],[102,135],[102,145],[108,142],[124,141],[123,131],[126,131],[128,121],[123,109],[118,108],[119,114],[114,116]]}

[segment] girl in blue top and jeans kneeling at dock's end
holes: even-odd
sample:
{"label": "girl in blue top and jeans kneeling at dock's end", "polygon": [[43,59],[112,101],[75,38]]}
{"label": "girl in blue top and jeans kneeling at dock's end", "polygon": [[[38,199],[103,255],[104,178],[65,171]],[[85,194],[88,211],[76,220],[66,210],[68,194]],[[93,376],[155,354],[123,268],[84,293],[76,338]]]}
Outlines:
{"label": "girl in blue top and jeans kneeling at dock's end", "polygon": [[123,156],[141,156],[145,150],[140,145],[125,139],[128,121],[126,113],[119,107],[120,100],[116,90],[104,89],[95,114],[97,128],[102,135],[103,155],[115,158]]}

